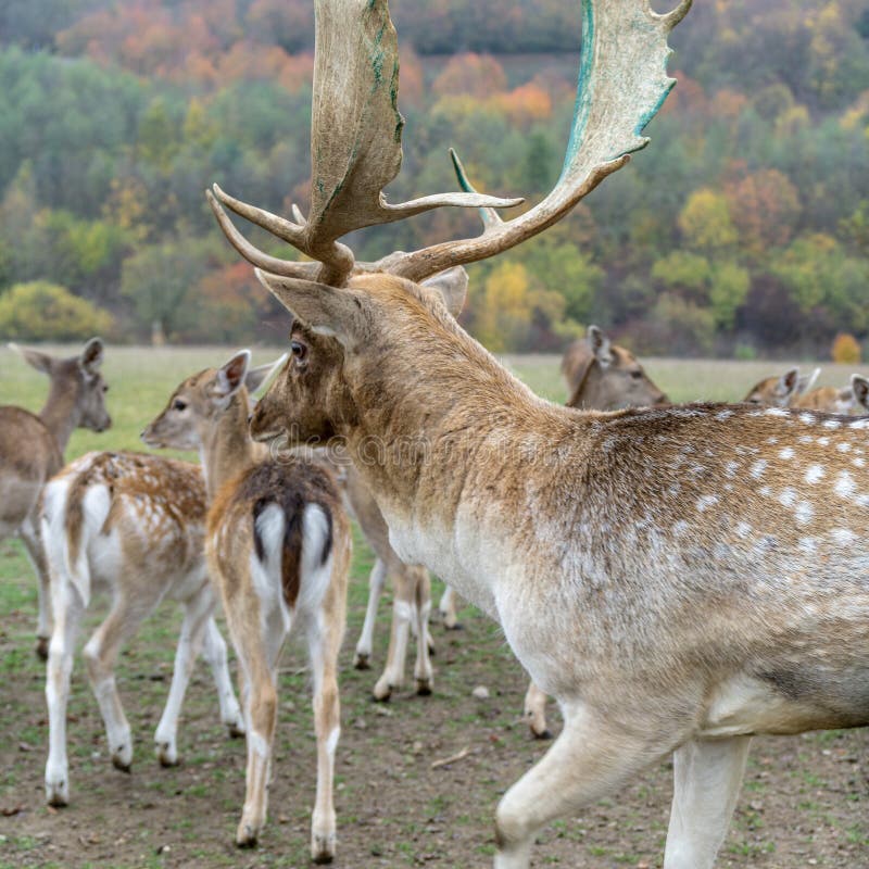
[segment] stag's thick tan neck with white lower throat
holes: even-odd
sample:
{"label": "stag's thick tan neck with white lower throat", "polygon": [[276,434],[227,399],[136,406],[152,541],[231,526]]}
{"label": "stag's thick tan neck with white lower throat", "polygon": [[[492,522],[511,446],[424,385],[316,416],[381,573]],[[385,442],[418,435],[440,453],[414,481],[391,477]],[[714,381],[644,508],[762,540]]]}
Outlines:
{"label": "stag's thick tan neck with white lower throat", "polygon": [[533,492],[579,459],[590,417],[536,396],[464,333],[418,343],[406,365],[364,371],[358,424],[342,433],[398,554],[492,612],[484,575],[511,559],[509,529],[541,508]]}

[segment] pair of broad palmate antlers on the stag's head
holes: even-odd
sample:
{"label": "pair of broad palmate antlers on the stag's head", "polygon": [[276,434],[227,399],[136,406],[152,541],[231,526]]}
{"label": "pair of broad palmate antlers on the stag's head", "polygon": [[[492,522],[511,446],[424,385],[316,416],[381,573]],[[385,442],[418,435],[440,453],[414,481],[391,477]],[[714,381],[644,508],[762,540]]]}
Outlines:
{"label": "pair of broad palmate antlers on the stag's head", "polygon": [[[275,275],[343,286],[354,270],[380,270],[423,280],[451,266],[484,260],[515,247],[564,217],[630,153],[648,141],[641,133],[675,84],[666,73],[669,32],[691,0],[666,15],[648,0],[582,0],[582,53],[577,102],[564,168],[553,191],[519,217],[503,222],[495,209],[520,204],[474,190],[453,153],[464,190],[387,203],[382,193],[401,167],[404,121],[396,108],[399,62],[387,0],[317,0],[312,117],[311,213],[293,206],[293,221],[227,196],[214,186],[212,209],[230,242]],[[267,229],[316,262],[269,256],[235,228],[222,204]],[[338,239],[354,229],[391,223],[440,207],[478,207],[484,230],[377,263],[355,263]]]}

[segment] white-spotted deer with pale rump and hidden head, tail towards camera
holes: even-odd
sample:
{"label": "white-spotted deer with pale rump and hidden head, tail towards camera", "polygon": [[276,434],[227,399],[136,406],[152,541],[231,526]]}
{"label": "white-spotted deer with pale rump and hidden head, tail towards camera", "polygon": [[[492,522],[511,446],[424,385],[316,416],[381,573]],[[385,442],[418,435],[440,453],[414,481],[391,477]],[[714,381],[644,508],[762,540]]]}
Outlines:
{"label": "white-spotted deer with pale rump and hidden head, tail towards camera", "polygon": [[178,715],[202,647],[217,687],[221,720],[241,735],[241,713],[214,621],[216,603],[205,569],[205,486],[196,465],[141,453],[89,453],[46,486],[41,533],[51,575],[54,627],[46,680],[49,756],[46,798],[70,802],[66,706],[76,637],[95,592],[112,608],[85,645],[88,677],[100,706],[112,763],[129,771],[133,735],[115,684],[122,645],[165,597],[184,622],[166,707],[156,728],[156,756],[178,763]]}

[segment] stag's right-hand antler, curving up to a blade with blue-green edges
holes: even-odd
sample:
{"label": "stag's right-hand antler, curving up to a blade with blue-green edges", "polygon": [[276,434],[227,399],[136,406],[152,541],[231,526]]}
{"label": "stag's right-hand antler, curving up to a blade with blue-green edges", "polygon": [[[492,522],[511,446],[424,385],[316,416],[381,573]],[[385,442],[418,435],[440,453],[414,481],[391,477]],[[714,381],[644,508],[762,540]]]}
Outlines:
{"label": "stag's right-hand antler, curving up to a blade with blue-green edges", "polygon": [[[691,0],[669,13],[654,12],[648,0],[583,0],[582,53],[577,101],[564,167],[555,188],[533,209],[513,221],[482,212],[483,232],[412,253],[395,253],[378,266],[411,280],[423,280],[454,265],[501,253],[562,219],[607,175],[621,168],[675,80],[666,74],[667,35],[684,17]],[[454,159],[463,188],[470,182]]]}

